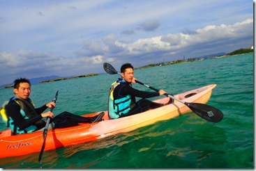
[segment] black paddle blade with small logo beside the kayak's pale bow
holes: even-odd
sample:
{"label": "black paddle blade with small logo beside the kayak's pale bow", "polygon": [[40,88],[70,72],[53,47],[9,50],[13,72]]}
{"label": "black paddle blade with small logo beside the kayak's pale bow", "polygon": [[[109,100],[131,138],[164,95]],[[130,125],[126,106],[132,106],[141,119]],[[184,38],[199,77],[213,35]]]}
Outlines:
{"label": "black paddle blade with small logo beside the kayak's pale bow", "polygon": [[186,105],[199,117],[210,122],[220,122],[223,120],[223,113],[207,104],[197,104],[197,103],[186,103]]}

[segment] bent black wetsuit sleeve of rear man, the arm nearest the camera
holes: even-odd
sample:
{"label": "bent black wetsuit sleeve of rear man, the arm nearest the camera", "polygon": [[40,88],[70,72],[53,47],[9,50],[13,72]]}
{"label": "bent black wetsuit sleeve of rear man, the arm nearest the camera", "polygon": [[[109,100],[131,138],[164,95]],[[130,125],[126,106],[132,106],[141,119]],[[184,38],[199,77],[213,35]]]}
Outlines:
{"label": "bent black wetsuit sleeve of rear man, the arm nearest the camera", "polygon": [[20,105],[15,103],[8,104],[8,106],[6,106],[6,112],[8,116],[12,117],[13,122],[15,123],[15,125],[17,125],[17,127],[20,127],[20,129],[25,129],[31,126],[32,124],[35,124],[36,122],[38,122],[38,120],[43,119],[41,115],[37,115],[36,117],[25,119],[20,113]]}

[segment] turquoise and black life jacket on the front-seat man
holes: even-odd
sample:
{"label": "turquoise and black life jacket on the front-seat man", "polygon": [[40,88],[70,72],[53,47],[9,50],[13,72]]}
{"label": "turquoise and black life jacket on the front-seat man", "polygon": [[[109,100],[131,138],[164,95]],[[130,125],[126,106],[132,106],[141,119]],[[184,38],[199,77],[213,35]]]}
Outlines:
{"label": "turquoise and black life jacket on the front-seat man", "polygon": [[108,99],[108,115],[112,119],[119,118],[121,115],[126,115],[130,111],[131,98],[130,95],[120,99],[114,99],[114,89],[117,86],[126,86],[126,81],[119,79],[112,83]]}

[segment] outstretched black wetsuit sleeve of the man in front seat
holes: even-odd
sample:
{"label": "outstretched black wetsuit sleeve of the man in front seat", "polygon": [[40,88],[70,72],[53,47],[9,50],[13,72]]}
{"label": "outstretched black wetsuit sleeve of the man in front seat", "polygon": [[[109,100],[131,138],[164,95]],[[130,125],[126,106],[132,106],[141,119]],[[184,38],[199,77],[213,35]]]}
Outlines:
{"label": "outstretched black wetsuit sleeve of the man in front seat", "polygon": [[134,97],[141,97],[141,98],[150,98],[150,97],[157,97],[159,96],[159,92],[146,92],[137,90],[129,85],[123,87],[123,90],[127,95],[131,95]]}

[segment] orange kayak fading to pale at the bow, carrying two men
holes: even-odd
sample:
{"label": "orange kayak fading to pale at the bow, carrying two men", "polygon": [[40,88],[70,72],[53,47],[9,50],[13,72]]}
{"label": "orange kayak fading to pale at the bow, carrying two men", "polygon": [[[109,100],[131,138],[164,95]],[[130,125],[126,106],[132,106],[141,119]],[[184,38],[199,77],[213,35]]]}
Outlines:
{"label": "orange kayak fading to pale at the bow, carrying two men", "polygon": [[[174,95],[174,97],[188,103],[206,104],[215,87],[216,84],[212,84],[188,92],[183,92],[179,95]],[[164,97],[155,101],[166,104],[167,101],[169,101],[169,97]],[[105,111],[103,121],[91,124],[81,124],[76,127],[48,130],[44,151],[98,140],[100,138],[115,135],[116,133],[133,131],[160,120],[170,120],[171,118],[190,111],[188,106],[176,100],[174,100],[173,104],[167,104],[160,108],[151,109],[137,115],[121,117],[116,120],[111,120],[108,117],[107,111]],[[91,117],[93,115],[98,115],[99,113],[100,112],[86,114],[86,116]],[[11,136],[10,129],[0,132],[0,158],[40,152],[42,145],[43,131],[24,133],[15,136]]]}

